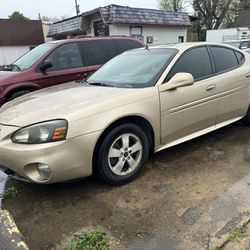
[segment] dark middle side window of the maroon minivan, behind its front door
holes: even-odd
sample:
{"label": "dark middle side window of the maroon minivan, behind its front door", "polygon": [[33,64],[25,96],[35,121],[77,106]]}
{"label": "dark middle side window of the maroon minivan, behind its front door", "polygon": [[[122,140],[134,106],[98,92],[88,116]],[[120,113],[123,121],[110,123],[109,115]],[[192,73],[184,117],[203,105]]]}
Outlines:
{"label": "dark middle side window of the maroon minivan, behind its front door", "polygon": [[118,54],[113,40],[93,40],[79,44],[89,66],[102,65]]}

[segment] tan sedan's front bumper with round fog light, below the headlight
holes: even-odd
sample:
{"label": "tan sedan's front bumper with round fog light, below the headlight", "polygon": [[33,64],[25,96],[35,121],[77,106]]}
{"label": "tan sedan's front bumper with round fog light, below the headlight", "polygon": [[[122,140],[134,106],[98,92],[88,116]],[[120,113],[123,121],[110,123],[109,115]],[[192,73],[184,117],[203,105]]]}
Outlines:
{"label": "tan sedan's front bumper with round fog light, below the headlight", "polygon": [[[92,175],[92,156],[98,132],[60,142],[24,145],[12,143],[10,139],[17,128],[12,128],[12,133],[9,127],[2,126],[1,129],[0,166],[14,178],[49,184]],[[7,136],[4,136],[5,130],[8,130]],[[37,163],[46,164],[51,169],[48,180],[39,178],[39,173],[32,167]]]}

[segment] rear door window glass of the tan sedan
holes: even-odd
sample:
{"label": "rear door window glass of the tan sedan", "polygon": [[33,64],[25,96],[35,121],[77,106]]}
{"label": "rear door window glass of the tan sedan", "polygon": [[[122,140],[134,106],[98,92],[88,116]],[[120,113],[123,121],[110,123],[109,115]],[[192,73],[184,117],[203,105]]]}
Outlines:
{"label": "rear door window glass of the tan sedan", "polygon": [[238,60],[233,50],[223,47],[211,47],[216,73],[238,67]]}

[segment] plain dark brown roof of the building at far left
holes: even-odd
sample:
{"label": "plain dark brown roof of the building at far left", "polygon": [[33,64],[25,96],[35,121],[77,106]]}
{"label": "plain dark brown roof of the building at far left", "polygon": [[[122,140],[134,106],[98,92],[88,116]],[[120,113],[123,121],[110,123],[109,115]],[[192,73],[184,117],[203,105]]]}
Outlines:
{"label": "plain dark brown roof of the building at far left", "polygon": [[42,22],[0,19],[0,46],[39,45],[44,43]]}

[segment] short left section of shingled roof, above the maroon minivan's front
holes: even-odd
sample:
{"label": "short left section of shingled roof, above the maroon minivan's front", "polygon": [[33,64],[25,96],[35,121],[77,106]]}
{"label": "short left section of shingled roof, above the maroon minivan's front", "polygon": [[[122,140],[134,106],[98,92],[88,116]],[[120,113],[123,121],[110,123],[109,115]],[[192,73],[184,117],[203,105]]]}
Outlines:
{"label": "short left section of shingled roof, above the maroon minivan's front", "polygon": [[50,25],[48,37],[54,35],[82,34],[82,16],[71,17]]}

